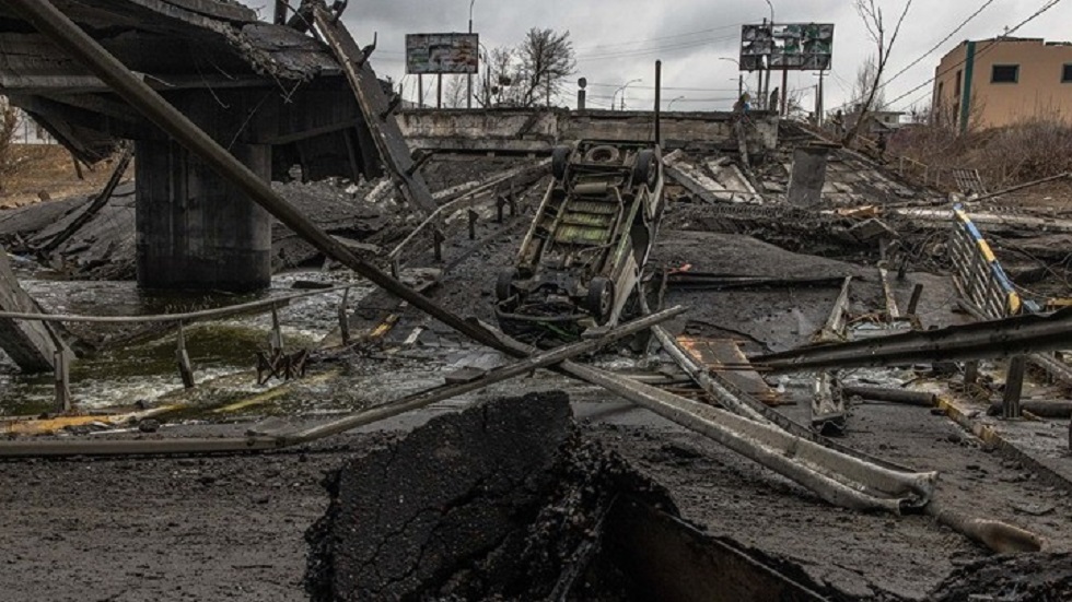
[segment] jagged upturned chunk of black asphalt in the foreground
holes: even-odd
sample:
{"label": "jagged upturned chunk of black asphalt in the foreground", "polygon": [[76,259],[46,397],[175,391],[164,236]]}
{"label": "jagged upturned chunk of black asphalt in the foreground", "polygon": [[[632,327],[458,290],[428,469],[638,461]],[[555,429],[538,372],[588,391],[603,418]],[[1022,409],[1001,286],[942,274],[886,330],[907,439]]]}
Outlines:
{"label": "jagged upturned chunk of black asphalt in the foreground", "polygon": [[561,392],[440,416],[327,479],[306,589],[319,602],[568,592],[619,494],[666,499],[633,474],[582,442]]}

